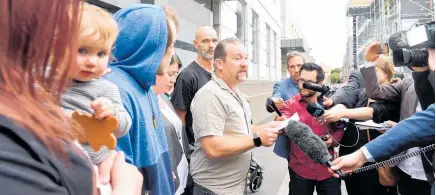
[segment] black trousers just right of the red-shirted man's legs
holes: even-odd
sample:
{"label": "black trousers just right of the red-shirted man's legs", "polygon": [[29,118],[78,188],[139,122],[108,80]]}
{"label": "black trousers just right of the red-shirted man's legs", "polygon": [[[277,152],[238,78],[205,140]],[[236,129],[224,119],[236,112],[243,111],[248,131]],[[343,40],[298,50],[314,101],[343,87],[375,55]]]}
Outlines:
{"label": "black trousers just right of the red-shirted man's legs", "polygon": [[351,175],[345,180],[345,186],[348,195],[397,195],[396,186],[380,184],[376,169]]}

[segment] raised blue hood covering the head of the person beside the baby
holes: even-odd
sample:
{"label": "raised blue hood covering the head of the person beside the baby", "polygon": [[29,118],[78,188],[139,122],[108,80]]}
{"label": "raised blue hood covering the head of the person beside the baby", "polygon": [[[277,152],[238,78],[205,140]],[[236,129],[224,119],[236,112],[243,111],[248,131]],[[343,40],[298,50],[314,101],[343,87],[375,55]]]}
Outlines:
{"label": "raised blue hood covering the head of the person beside the baby", "polygon": [[155,85],[156,72],[165,54],[168,29],[160,6],[136,4],[119,10],[114,19],[120,30],[111,68],[121,69],[142,88]]}

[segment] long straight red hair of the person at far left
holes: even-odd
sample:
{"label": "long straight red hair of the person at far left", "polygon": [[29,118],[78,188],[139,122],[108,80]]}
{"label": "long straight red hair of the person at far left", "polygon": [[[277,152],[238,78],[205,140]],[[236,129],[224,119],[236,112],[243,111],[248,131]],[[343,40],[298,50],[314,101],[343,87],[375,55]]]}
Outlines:
{"label": "long straight red hair of the person at far left", "polygon": [[60,95],[75,63],[79,7],[80,0],[0,1],[0,115],[58,154],[75,132]]}

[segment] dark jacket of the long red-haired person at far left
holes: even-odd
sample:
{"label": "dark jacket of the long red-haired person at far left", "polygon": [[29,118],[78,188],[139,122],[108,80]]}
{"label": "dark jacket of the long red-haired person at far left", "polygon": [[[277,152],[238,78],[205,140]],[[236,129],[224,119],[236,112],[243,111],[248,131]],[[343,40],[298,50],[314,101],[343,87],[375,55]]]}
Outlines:
{"label": "dark jacket of the long red-haired person at far left", "polygon": [[27,129],[2,115],[0,148],[0,194],[92,194],[93,171],[84,153],[65,147],[66,158],[56,157]]}

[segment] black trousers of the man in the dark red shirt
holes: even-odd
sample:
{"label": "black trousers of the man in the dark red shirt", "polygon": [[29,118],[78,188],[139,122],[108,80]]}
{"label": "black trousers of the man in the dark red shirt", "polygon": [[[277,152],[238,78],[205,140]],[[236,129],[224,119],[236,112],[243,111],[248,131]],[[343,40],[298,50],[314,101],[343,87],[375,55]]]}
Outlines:
{"label": "black trousers of the man in the dark red shirt", "polygon": [[315,187],[318,195],[341,195],[341,180],[334,177],[317,181],[305,179],[292,171],[291,182],[292,195],[313,195]]}

